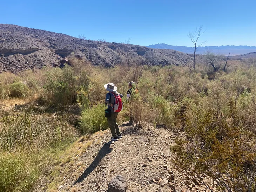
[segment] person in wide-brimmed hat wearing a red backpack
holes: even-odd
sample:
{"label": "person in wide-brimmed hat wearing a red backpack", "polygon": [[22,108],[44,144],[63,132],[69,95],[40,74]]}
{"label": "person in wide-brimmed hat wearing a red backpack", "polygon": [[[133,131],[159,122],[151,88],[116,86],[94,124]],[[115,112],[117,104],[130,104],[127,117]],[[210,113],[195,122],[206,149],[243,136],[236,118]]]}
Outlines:
{"label": "person in wide-brimmed hat wearing a red backpack", "polygon": [[[110,139],[113,141],[117,141],[118,139],[122,138],[122,134],[119,130],[119,126],[116,123],[116,118],[117,118],[118,112],[115,112],[115,111],[120,111],[120,109],[116,110],[115,107],[117,105],[122,105],[122,103],[120,104],[120,100],[123,97],[123,95],[117,92],[117,87],[115,86],[114,83],[107,83],[104,85],[104,88],[107,91],[109,91],[106,94],[105,102],[108,105],[107,110],[110,111],[110,117],[108,117],[108,125],[110,128],[111,134],[112,134],[112,137]],[[119,103],[117,103],[117,102],[119,102]],[[118,106],[118,107],[120,107],[120,106]]]}

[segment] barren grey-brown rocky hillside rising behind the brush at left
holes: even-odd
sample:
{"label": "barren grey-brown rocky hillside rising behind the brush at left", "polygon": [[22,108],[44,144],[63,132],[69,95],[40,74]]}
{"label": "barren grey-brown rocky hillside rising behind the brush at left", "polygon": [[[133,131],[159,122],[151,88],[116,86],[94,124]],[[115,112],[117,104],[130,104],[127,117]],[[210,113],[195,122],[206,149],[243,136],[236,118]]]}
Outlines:
{"label": "barren grey-brown rocky hillside rising behind the brush at left", "polygon": [[45,30],[0,24],[0,72],[58,67],[70,55],[79,55],[95,66],[113,67],[126,63],[127,50],[133,64],[183,66],[193,61],[191,55],[175,50],[82,40]]}

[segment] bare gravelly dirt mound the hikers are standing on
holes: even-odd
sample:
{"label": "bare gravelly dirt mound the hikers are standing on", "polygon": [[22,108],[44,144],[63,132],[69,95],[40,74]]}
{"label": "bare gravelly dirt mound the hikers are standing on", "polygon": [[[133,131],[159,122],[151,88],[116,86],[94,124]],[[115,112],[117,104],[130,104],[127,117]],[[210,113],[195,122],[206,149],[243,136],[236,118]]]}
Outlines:
{"label": "bare gravelly dirt mound the hikers are standing on", "polygon": [[135,129],[123,124],[121,129],[123,138],[111,145],[106,144],[110,139],[109,130],[93,135],[92,144],[75,163],[73,174],[64,177],[59,191],[106,192],[109,181],[119,174],[127,180],[127,192],[174,191],[169,184],[173,184],[176,191],[204,191],[203,186],[194,183],[190,190],[184,183],[189,176],[171,166],[170,145],[174,144],[175,135],[183,132],[150,125]]}

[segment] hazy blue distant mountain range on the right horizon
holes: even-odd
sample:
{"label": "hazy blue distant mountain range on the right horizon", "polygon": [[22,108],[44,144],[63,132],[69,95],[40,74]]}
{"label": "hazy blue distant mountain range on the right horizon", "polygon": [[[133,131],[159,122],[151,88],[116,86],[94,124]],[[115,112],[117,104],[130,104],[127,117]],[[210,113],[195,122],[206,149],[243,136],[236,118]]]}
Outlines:
{"label": "hazy blue distant mountain range on the right horizon", "polygon": [[[154,49],[173,49],[179,52],[183,53],[189,53],[192,54],[194,53],[194,48],[193,47],[185,47],[185,46],[173,46],[173,45],[168,45],[165,43],[159,43],[159,44],[152,44],[149,46],[146,46],[149,48],[154,48]],[[220,54],[220,55],[242,55],[242,54],[247,54],[250,52],[256,52],[256,46],[234,46],[234,45],[227,45],[227,46],[206,46],[206,47],[198,47],[196,50],[197,54],[204,54],[206,53],[207,50],[210,50],[213,53]]]}

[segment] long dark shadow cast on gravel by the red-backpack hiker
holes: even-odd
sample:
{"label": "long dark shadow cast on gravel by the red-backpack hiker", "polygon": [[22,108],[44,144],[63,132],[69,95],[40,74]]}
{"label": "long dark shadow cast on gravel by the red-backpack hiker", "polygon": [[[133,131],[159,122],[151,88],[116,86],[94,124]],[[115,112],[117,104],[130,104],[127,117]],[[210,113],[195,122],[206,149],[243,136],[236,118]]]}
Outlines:
{"label": "long dark shadow cast on gravel by the red-backpack hiker", "polygon": [[90,164],[90,166],[83,172],[83,174],[76,180],[73,185],[82,182],[100,163],[101,159],[110,153],[113,149],[110,148],[110,145],[105,143],[102,148],[99,150],[97,156]]}

